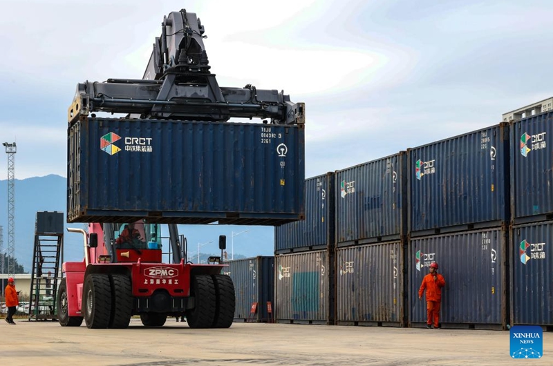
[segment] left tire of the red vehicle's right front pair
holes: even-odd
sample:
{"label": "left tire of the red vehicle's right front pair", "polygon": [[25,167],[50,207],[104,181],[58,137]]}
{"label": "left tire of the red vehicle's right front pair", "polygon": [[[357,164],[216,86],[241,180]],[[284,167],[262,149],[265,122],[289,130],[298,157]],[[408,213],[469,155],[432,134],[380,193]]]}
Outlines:
{"label": "left tire of the red vehicle's right front pair", "polygon": [[194,309],[188,309],[186,320],[191,328],[211,328],[215,319],[216,295],[212,276],[194,276],[190,296],[194,296]]}

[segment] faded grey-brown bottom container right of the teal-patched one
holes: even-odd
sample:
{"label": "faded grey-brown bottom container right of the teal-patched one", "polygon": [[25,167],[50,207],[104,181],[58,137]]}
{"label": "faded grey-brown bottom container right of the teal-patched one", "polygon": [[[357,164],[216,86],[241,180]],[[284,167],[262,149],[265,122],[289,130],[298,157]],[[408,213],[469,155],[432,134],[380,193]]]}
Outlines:
{"label": "faded grey-brown bottom container right of the teal-patched one", "polygon": [[404,325],[401,242],[340,248],[336,256],[337,323]]}

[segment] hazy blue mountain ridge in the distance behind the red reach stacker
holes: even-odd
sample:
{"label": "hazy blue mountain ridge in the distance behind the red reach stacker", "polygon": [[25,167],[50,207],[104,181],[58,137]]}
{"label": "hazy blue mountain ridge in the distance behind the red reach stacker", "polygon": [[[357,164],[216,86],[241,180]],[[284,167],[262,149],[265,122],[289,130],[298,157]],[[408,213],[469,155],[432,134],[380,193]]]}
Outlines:
{"label": "hazy blue mountain ridge in the distance behind the red reach stacker", "polygon": [[[19,264],[25,267],[26,271],[30,272],[32,269],[32,247],[35,240],[37,211],[63,212],[65,217],[66,192],[66,178],[59,175],[15,180],[15,257]],[[6,249],[8,247],[7,180],[0,180],[0,226],[3,227],[3,245]],[[66,224],[65,227],[84,229],[85,225]],[[164,235],[164,232],[166,233],[167,230],[163,229],[162,235]],[[201,254],[200,260],[205,260],[207,255],[221,254],[218,249],[219,235],[227,235],[227,257],[229,259],[232,257],[233,236],[235,259],[272,256],[274,253],[273,227],[179,225],[179,233],[184,234],[187,238],[189,260],[193,262],[197,262],[198,244]],[[64,234],[64,247],[64,260],[82,260],[82,238],[79,234],[66,232]],[[168,249],[164,248],[164,251],[166,250]],[[194,257],[194,260],[192,257]],[[164,256],[164,260],[166,258],[167,256]]]}

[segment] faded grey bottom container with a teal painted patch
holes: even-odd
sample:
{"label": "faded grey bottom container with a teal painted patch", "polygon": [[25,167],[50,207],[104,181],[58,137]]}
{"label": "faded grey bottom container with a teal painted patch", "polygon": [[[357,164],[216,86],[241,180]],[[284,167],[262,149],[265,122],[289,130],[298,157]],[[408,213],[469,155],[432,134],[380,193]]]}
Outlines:
{"label": "faded grey bottom container with a teal painted patch", "polygon": [[274,260],[277,322],[332,322],[328,252],[283,254]]}

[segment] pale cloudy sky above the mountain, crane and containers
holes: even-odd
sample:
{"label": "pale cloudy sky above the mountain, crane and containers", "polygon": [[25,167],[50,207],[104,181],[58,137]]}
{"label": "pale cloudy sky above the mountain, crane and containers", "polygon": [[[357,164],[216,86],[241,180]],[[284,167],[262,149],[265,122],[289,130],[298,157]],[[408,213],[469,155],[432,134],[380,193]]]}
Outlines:
{"label": "pale cloudy sky above the mountain, crane and containers", "polygon": [[[205,26],[219,85],[306,103],[306,177],[491,126],[553,95],[549,1],[0,4],[0,139],[17,143],[18,179],[66,177],[77,84],[141,78],[163,17],[181,8]],[[0,179],[6,166],[0,157]]]}

